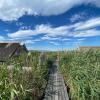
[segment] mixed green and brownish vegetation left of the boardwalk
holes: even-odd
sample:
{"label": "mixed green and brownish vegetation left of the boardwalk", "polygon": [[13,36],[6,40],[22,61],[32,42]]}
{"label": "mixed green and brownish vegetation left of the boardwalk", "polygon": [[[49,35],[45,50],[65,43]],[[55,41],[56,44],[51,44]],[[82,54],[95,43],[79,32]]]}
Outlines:
{"label": "mixed green and brownish vegetation left of the boardwalk", "polygon": [[[39,64],[40,52],[13,57],[0,66],[0,100],[38,100],[47,84],[48,61]],[[8,67],[9,65],[9,67]]]}

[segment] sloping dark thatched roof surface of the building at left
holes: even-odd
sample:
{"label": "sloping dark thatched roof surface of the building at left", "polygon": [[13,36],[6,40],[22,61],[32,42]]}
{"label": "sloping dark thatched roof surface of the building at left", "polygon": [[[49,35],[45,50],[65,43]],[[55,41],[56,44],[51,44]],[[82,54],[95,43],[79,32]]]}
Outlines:
{"label": "sloping dark thatched roof surface of the building at left", "polygon": [[19,43],[0,43],[0,61],[7,61],[20,47]]}

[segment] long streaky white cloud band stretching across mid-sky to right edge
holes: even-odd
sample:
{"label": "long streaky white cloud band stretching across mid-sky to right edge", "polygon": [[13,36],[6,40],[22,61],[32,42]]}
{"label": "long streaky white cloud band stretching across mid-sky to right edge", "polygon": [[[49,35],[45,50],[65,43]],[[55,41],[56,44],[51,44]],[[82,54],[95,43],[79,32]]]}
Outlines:
{"label": "long streaky white cloud band stretching across mid-sky to right edge", "polygon": [[[67,41],[68,37],[90,37],[100,36],[100,30],[95,29],[100,26],[100,18],[92,18],[85,22],[78,22],[73,25],[53,27],[51,25],[37,25],[33,30],[19,30],[9,33],[9,38],[25,38],[43,34],[41,40],[61,40]],[[63,37],[63,38],[61,38]]]}

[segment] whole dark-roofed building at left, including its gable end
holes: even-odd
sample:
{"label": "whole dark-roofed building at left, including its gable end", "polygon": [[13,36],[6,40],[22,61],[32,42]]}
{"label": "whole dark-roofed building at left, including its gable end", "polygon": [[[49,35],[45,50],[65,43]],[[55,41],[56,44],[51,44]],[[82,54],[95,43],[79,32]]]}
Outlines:
{"label": "whole dark-roofed building at left, including its gable end", "polygon": [[6,62],[13,56],[19,56],[22,51],[27,52],[27,48],[20,43],[0,43],[0,62]]}

